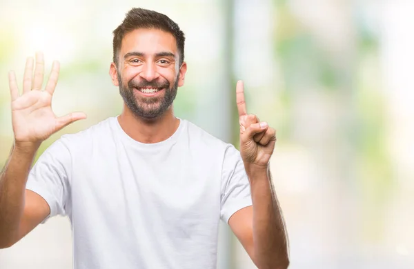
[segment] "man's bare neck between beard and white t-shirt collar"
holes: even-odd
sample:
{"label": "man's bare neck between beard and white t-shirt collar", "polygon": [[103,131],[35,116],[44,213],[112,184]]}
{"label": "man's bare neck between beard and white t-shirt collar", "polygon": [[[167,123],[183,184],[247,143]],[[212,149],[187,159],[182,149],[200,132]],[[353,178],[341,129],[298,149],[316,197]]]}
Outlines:
{"label": "man's bare neck between beard and white t-shirt collar", "polygon": [[132,139],[141,143],[158,143],[171,137],[179,126],[172,106],[155,119],[137,117],[124,104],[124,110],[118,117],[121,128]]}

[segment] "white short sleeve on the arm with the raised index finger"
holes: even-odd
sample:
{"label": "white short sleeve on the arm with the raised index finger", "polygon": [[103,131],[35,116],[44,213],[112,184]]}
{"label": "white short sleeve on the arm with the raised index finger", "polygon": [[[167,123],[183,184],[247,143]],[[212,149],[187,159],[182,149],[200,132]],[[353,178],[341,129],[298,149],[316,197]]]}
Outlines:
{"label": "white short sleeve on the arm with the raised index finger", "polygon": [[252,205],[250,183],[239,150],[230,145],[224,153],[221,172],[221,219],[228,219],[242,208]]}

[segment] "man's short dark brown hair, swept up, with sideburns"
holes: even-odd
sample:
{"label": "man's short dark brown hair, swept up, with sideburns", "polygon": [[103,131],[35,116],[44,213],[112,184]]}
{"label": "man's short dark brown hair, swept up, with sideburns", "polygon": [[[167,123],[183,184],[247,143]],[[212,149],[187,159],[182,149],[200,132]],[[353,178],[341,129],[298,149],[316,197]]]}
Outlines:
{"label": "man's short dark brown hair, swept up, with sideburns", "polygon": [[184,61],[184,42],[186,40],[184,32],[179,29],[177,23],[166,15],[143,8],[132,8],[128,11],[124,21],[113,32],[113,61],[116,65],[118,65],[119,50],[125,34],[139,28],[153,28],[171,33],[177,41],[179,66],[181,66]]}

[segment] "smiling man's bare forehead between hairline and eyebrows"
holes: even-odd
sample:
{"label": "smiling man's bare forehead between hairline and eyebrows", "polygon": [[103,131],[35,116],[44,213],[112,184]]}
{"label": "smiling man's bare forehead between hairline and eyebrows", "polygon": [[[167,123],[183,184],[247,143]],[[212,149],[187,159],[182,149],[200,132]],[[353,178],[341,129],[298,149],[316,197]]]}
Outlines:
{"label": "smiling man's bare forehead between hairline and eyebrows", "polygon": [[124,35],[121,43],[121,55],[128,52],[143,52],[155,54],[157,52],[177,52],[175,37],[159,29],[135,29]]}

